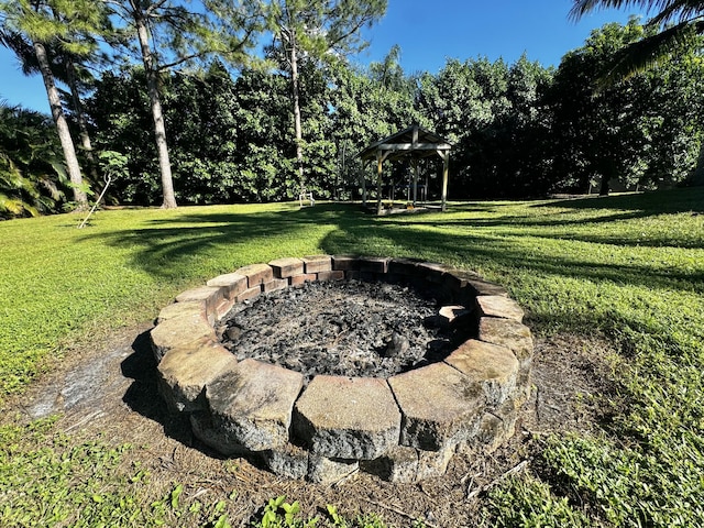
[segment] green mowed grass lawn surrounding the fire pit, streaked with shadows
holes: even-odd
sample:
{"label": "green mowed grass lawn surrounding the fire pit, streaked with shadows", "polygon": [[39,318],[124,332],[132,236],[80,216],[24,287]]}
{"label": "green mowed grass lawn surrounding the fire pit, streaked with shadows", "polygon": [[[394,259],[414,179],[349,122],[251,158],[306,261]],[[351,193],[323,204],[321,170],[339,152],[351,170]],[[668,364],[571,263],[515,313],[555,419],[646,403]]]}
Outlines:
{"label": "green mowed grass lawn surrounding the fire pit, streaked with shadows", "polygon": [[[316,253],[421,257],[506,286],[539,336],[604,336],[619,351],[614,375],[628,405],[600,435],[542,440],[541,471],[491,493],[492,522],[704,524],[704,189],[466,202],[393,218],[348,205],[285,204],[102,211],[84,230],[78,221],[0,223],[4,394],[22,391],[73,344],[148,321],[180,290],[244,264]],[[13,460],[25,460],[18,452],[26,460],[9,464],[0,448],[0,497],[14,501],[0,520],[20,518],[26,503],[8,495],[2,469],[36,479],[43,468],[32,465],[29,439],[37,432],[8,431]],[[124,482],[105,473],[101,490],[127,497]],[[136,520],[123,526],[165,518],[124,504]]]}

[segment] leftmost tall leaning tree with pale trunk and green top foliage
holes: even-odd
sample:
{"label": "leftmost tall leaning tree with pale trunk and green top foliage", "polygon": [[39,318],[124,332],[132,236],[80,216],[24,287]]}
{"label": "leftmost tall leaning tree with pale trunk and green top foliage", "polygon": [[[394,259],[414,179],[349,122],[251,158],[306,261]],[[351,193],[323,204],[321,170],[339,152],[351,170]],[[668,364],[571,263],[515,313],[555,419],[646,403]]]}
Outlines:
{"label": "leftmost tall leaning tree with pale trunk and green top foliage", "polygon": [[101,3],[91,0],[2,0],[2,28],[7,35],[19,34],[31,43],[44,80],[52,117],[64,151],[74,200],[79,209],[88,204],[76,150],[54,80],[47,48],[75,55],[88,55],[95,43],[87,37],[98,31],[103,20]]}

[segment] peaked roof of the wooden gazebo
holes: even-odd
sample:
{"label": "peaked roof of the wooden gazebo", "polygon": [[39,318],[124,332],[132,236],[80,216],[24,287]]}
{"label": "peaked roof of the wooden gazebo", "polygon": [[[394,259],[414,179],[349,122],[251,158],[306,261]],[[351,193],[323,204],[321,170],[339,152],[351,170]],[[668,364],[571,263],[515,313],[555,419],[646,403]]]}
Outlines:
{"label": "peaked roof of the wooden gazebo", "polygon": [[443,157],[452,148],[452,144],[429,130],[421,129],[418,124],[384,138],[382,141],[371,144],[359,156],[366,160],[399,160],[402,157],[428,157],[438,154]]}

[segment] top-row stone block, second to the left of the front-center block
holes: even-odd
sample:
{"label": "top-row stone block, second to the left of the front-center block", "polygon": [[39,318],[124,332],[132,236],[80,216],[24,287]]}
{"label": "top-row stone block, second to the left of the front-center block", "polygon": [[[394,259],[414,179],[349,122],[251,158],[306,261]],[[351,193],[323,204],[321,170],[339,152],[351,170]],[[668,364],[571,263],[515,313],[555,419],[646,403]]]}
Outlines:
{"label": "top-row stone block, second to the left of the front-center block", "polygon": [[213,341],[172,349],[158,364],[160,393],[174,411],[205,410],[205,388],[238,362],[222,345]]}

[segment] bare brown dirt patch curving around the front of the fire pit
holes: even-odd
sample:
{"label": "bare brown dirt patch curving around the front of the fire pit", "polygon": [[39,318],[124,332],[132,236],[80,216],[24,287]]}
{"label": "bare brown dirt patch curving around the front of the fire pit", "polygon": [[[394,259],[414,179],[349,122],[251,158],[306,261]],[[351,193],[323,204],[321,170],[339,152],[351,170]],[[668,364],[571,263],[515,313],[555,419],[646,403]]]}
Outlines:
{"label": "bare brown dirt patch curving around the front of the fire pit", "polygon": [[344,515],[377,513],[393,526],[410,526],[416,518],[428,526],[474,525],[486,490],[512,470],[530,471],[540,437],[600,427],[608,420],[602,398],[616,388],[606,363],[613,350],[605,340],[537,339],[534,389],[507,446],[484,458],[458,454],[446,475],[418,484],[389,484],[360,473],[334,485],[314,485],[277,477],[242,459],[223,460],[191,436],[184,418],[168,415],[156,388],[148,328],[125,329],[74,351],[22,397],[6,402],[4,416],[58,411],[64,414],[59,427],[77,441],[100,437],[132,443],[125,464],[136,460],[148,470],[154,498],[175,483],[184,484],[185,499],[198,495],[212,502],[237,491],[229,512],[232,526],[248,526],[278,495],[299,501],[310,516],[333,504]]}

